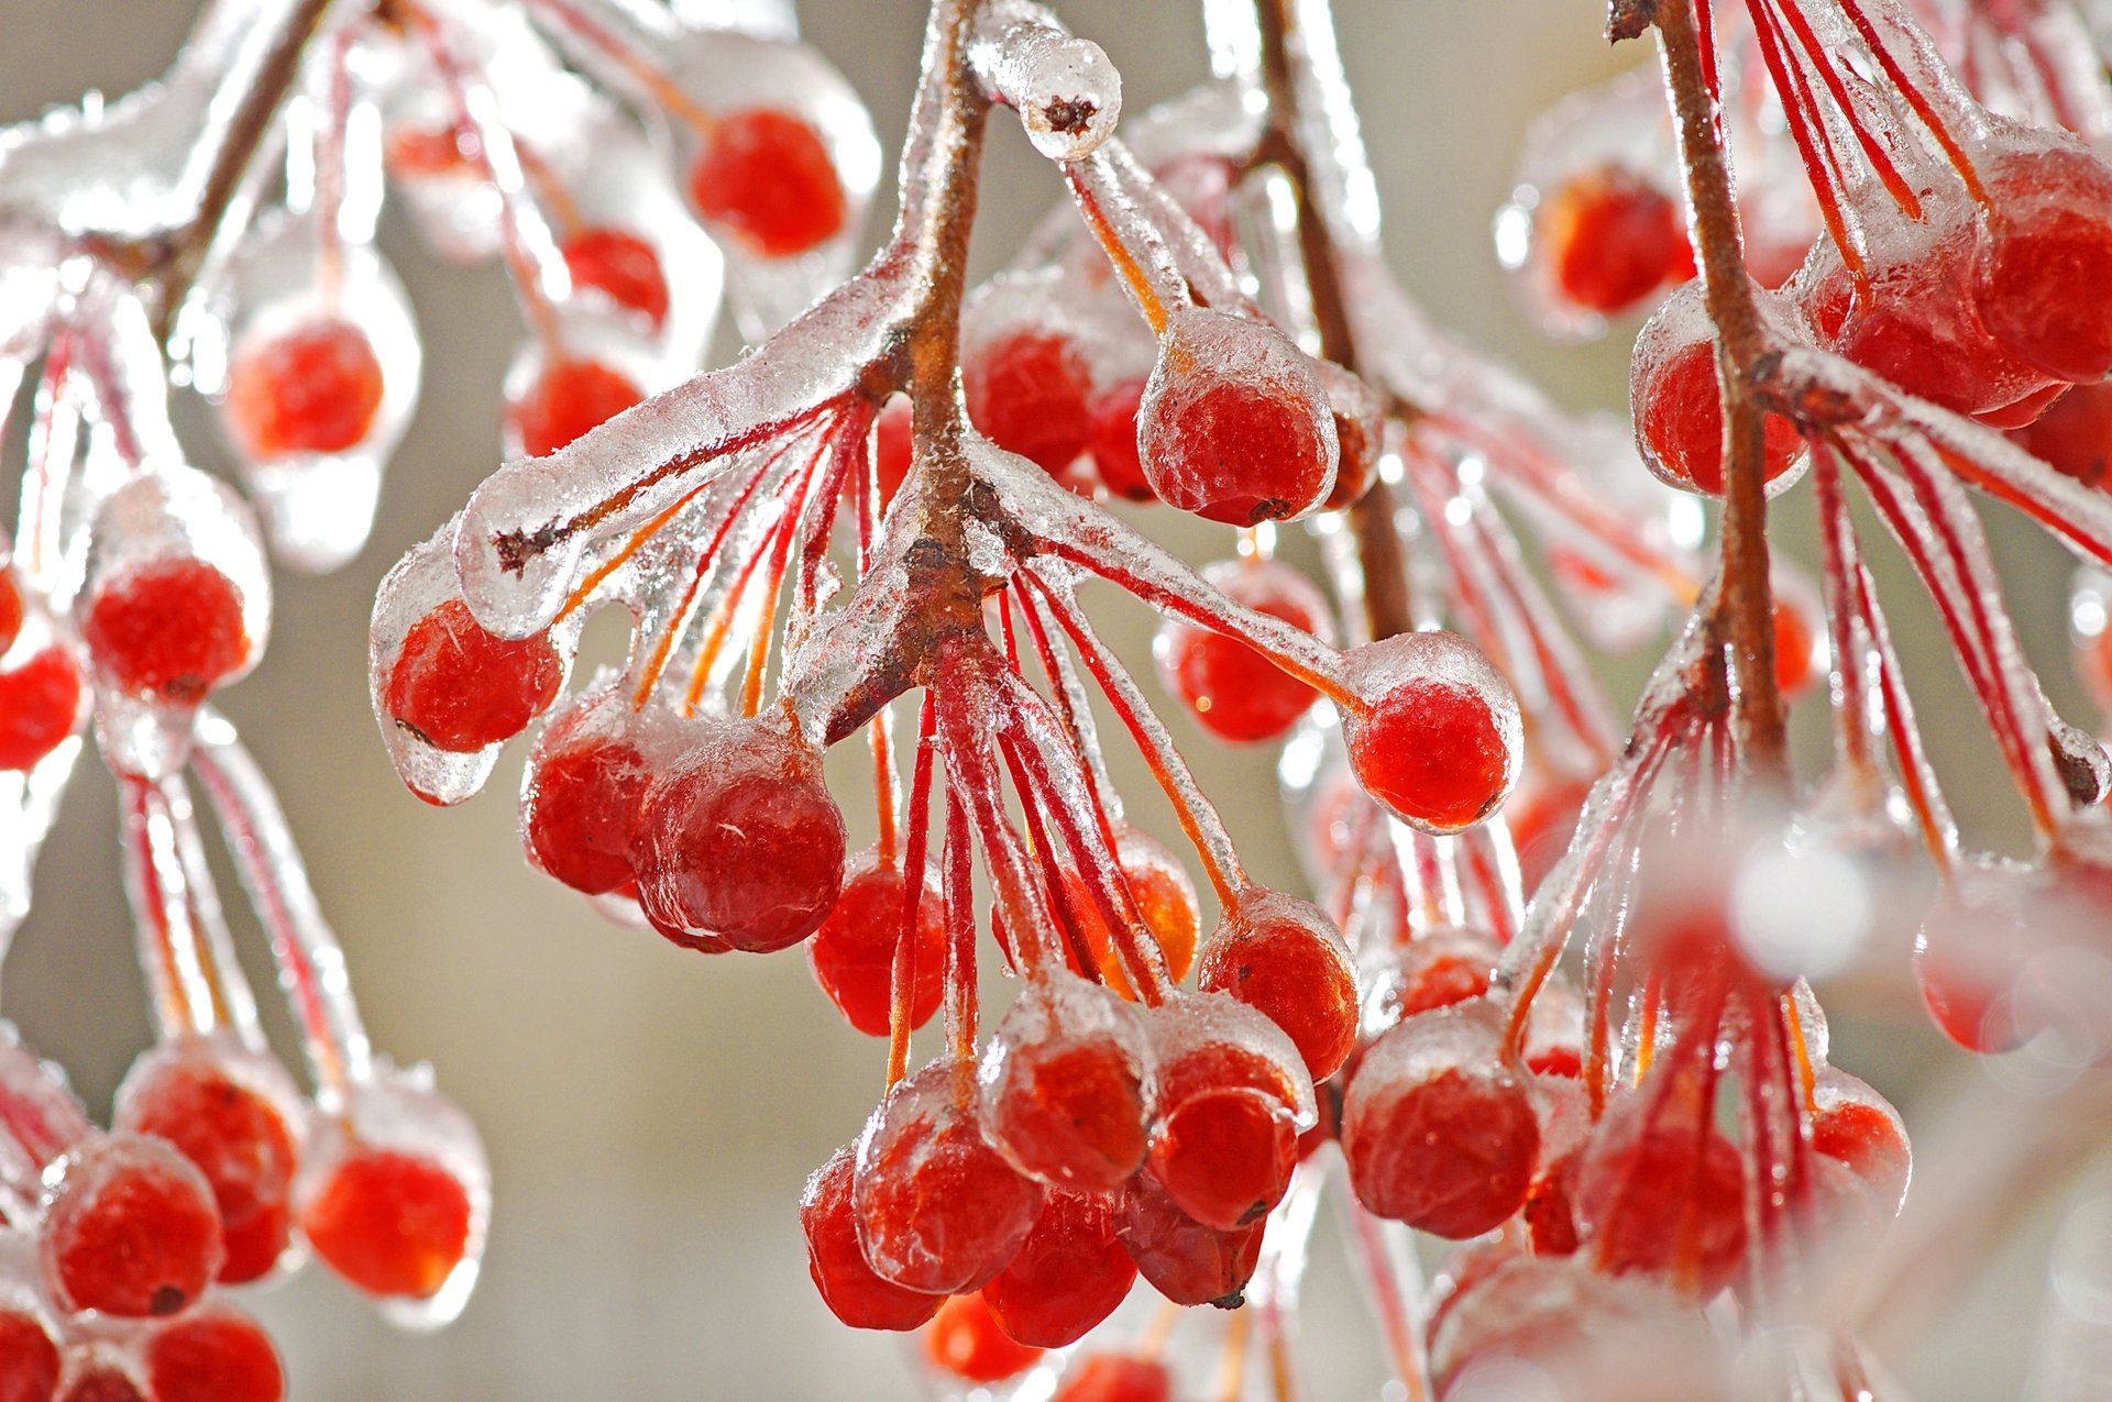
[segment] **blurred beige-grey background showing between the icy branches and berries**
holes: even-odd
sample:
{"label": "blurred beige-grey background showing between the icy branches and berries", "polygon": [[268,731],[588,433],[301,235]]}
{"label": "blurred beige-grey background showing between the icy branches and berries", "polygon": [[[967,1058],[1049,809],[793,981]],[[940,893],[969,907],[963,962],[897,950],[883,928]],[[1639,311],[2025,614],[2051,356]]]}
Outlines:
{"label": "blurred beige-grey background showing between the icy branches and berries", "polygon": [[[891,148],[917,72],[923,4],[807,0],[800,8],[807,36],[847,72]],[[1191,0],[1058,0],[1056,8],[1115,59],[1130,112],[1206,74]],[[1390,255],[1409,291],[1438,323],[1510,359],[1559,401],[1624,405],[1626,338],[1616,331],[1582,346],[1540,338],[1495,266],[1489,220],[1533,116],[1649,61],[1649,51],[1609,51],[1603,6],[1592,0],[1339,0],[1337,8],[1390,217]],[[192,11],[190,0],[0,0],[0,118],[34,116],[84,89],[135,87],[165,65]],[[1052,169],[1001,114],[976,230],[978,272],[1007,258],[1058,196]],[[885,192],[876,209],[891,209]],[[876,217],[868,241],[883,230]],[[855,1136],[876,1100],[885,1047],[845,1028],[798,952],[684,954],[604,925],[532,874],[513,823],[520,747],[482,798],[446,813],[406,794],[389,769],[365,688],[374,587],[496,465],[498,380],[522,329],[496,270],[441,268],[401,226],[384,247],[412,289],[427,342],[418,420],[391,469],[367,551],[336,576],[281,581],[272,648],[224,707],[279,785],[344,937],[376,1045],[399,1062],[431,1060],[441,1087],[482,1125],[496,1214],[477,1296],[441,1334],[397,1334],[321,1271],[247,1303],[277,1332],[291,1396],[302,1402],[917,1396],[898,1339],[853,1334],[826,1313],[807,1282],[794,1216],[805,1174]],[[190,433],[190,441],[209,462],[213,435]],[[1808,557],[1806,494],[1789,494],[1776,517],[1789,549]],[[1221,530],[1138,519],[1191,560],[1229,553]],[[2093,722],[2066,663],[2066,557],[2015,522],[1994,530],[2049,690],[2066,714]],[[1892,587],[1888,604],[1968,832],[2013,845],[2017,817],[1992,745],[1918,589]],[[1105,608],[1102,617],[1117,646],[1140,661],[1151,619],[1140,608]],[[589,629],[589,646],[617,642],[606,619]],[[1647,652],[1616,682],[1620,705],[1633,701]],[[1808,701],[1797,718],[1808,773],[1825,756],[1823,705]],[[1274,756],[1231,754],[1202,743],[1183,716],[1170,712],[1170,722],[1257,876],[1299,885],[1274,798]],[[860,762],[843,771],[845,807],[853,823],[870,826],[853,798],[866,792]],[[1136,773],[1124,783],[1138,821],[1172,834],[1164,811],[1145,802],[1147,788]],[[114,853],[112,792],[84,764],[46,849],[38,908],[15,946],[4,999],[6,1016],[72,1071],[99,1115],[148,1041]],[[253,965],[253,975],[268,984],[266,967]],[[1960,1098],[2002,1096],[2030,1121],[2030,1098],[2059,1090],[2021,1085],[2021,1075],[1951,1054],[1897,984],[1844,999],[1829,999],[1835,1062],[1894,1096],[1918,1130],[1916,1197],[1943,1172],[1943,1132],[1920,1130],[1943,1123]],[[1985,1138],[1992,1121],[1966,1111],[1958,1123],[1970,1140],[1975,1128]],[[2004,1246],[1970,1265],[1960,1292],[1935,1292],[1907,1311],[1918,1339],[1882,1353],[1905,1394],[1939,1402],[2019,1394],[2051,1307],[2049,1239],[2070,1201],[2051,1191],[1979,1206]],[[1956,1235],[1970,1237],[1968,1223]],[[1377,1396],[1375,1332],[1331,1225],[1318,1242],[1307,1301],[1314,1396]]]}

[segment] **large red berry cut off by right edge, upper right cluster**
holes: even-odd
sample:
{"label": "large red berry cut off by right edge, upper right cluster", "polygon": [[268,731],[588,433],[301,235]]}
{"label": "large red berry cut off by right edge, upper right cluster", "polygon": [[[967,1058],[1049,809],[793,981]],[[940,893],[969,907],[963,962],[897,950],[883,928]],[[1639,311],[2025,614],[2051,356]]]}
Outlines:
{"label": "large red berry cut off by right edge, upper right cluster", "polygon": [[2112,372],[2112,165],[2080,141],[1981,160],[1990,205],[1973,264],[1981,321],[2055,380]]}

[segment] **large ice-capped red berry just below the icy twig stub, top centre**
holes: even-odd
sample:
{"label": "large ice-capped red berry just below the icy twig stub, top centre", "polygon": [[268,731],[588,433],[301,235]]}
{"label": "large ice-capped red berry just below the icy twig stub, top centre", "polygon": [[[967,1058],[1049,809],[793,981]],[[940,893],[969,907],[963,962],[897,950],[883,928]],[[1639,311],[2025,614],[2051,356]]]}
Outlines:
{"label": "large ice-capped red berry just below the icy twig stub, top centre", "polygon": [[1174,312],[1136,427],[1151,490],[1212,522],[1303,515],[1335,486],[1335,422],[1312,363],[1282,331],[1229,312]]}

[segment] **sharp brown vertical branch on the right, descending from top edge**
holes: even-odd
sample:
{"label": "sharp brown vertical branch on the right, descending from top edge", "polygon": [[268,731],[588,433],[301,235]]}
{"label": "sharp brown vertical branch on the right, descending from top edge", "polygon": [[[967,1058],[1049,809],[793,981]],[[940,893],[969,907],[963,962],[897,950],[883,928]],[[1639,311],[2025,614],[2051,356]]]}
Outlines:
{"label": "sharp brown vertical branch on the right, descending from top edge", "polygon": [[1753,773],[1787,777],[1783,695],[1774,684],[1774,598],[1768,583],[1766,410],[1755,393],[1772,344],[1745,270],[1738,205],[1732,198],[1723,125],[1709,80],[1694,4],[1656,6],[1664,49],[1664,84],[1679,129],[1687,205],[1700,245],[1702,291],[1717,327],[1717,378],[1723,386],[1723,526],[1721,589],[1709,610],[1711,650],[1730,650],[1738,684],[1732,718],[1738,747]]}

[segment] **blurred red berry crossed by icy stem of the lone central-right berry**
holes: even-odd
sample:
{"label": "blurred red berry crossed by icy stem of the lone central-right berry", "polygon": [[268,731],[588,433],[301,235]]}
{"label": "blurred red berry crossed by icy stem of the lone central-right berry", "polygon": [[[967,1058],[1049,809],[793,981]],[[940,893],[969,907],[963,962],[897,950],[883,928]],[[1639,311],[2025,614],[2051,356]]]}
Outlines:
{"label": "blurred red berry crossed by icy stem of the lone central-right berry", "polygon": [[[1227,560],[1204,579],[1233,604],[1314,633],[1333,636],[1326,600],[1303,574],[1274,560]],[[1195,722],[1223,741],[1280,739],[1318,701],[1314,688],[1282,671],[1240,638],[1168,619],[1153,655],[1168,690]]]}

